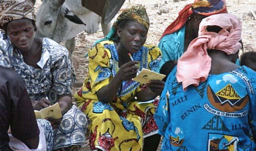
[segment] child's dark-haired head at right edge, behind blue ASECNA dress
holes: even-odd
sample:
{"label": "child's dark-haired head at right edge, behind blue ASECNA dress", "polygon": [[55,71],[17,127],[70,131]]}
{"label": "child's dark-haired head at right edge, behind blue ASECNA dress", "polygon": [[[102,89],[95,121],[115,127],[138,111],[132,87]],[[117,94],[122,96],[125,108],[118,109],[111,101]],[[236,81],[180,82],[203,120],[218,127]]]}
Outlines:
{"label": "child's dark-haired head at right edge, behind blue ASECNA dress", "polygon": [[240,61],[241,65],[248,66],[249,68],[256,71],[256,51],[243,53],[240,58]]}

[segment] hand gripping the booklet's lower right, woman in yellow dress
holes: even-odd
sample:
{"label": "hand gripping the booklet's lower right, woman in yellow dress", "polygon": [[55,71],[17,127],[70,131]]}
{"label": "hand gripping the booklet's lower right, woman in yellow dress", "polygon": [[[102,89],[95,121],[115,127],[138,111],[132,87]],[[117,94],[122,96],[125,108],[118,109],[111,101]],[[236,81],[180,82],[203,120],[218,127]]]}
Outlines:
{"label": "hand gripping the booklet's lower right, woman in yellow dress", "polygon": [[150,80],[146,85],[154,94],[159,96],[163,91],[164,84],[161,80]]}

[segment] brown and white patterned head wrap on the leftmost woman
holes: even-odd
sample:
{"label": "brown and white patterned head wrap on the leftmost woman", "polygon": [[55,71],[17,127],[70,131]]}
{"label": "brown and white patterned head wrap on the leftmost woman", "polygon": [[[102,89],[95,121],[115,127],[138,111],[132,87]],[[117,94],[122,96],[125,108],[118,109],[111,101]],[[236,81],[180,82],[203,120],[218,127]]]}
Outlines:
{"label": "brown and white patterned head wrap on the leftmost woman", "polygon": [[33,3],[30,0],[0,0],[0,28],[16,19],[35,21]]}

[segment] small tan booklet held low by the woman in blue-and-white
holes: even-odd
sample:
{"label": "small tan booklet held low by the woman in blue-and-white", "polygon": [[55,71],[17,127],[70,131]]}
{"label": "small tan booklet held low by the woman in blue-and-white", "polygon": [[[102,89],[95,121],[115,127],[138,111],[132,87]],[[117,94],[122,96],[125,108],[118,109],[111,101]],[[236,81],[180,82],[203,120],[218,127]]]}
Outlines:
{"label": "small tan booklet held low by the woman in blue-and-white", "polygon": [[60,105],[58,102],[49,107],[45,107],[45,108],[41,109],[40,111],[34,110],[34,112],[35,112],[35,117],[41,118],[41,119],[45,119],[48,117],[51,117],[54,119],[59,119],[62,117]]}

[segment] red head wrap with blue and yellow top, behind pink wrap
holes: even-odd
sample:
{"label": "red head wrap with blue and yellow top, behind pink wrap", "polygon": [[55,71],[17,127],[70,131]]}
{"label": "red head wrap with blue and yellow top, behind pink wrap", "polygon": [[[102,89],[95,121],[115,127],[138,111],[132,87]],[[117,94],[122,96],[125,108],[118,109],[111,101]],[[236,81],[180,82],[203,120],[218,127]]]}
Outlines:
{"label": "red head wrap with blue and yellow top, behind pink wrap", "polygon": [[[228,13],[225,0],[195,0],[194,3],[187,4],[180,12],[179,16],[165,29],[161,38],[165,35],[178,31],[188,20],[189,16],[197,13],[210,16],[219,13]],[[160,39],[161,39],[160,38]]]}

